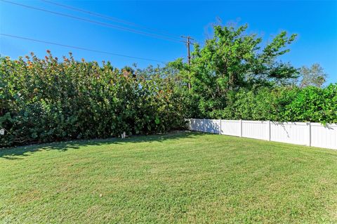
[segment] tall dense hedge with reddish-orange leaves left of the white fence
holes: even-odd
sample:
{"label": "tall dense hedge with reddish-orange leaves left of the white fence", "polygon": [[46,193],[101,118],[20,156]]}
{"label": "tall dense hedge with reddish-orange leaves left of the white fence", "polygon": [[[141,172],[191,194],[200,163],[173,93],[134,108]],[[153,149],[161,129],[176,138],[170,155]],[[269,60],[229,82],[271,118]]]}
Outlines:
{"label": "tall dense hedge with reddish-orange leaves left of the white fence", "polygon": [[[173,78],[151,77],[109,62],[3,58],[0,62],[1,146],[157,133],[184,124]],[[141,73],[141,72],[139,72]]]}

